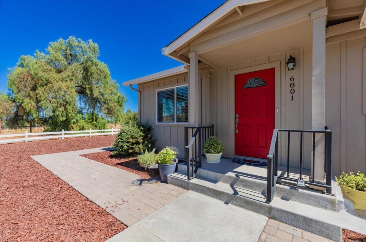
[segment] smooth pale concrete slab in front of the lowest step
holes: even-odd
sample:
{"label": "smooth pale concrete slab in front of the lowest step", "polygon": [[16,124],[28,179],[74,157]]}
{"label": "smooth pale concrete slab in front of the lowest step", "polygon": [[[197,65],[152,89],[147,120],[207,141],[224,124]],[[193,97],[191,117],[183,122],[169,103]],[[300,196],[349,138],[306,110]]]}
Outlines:
{"label": "smooth pale concrete slab in front of the lowest step", "polygon": [[255,242],[267,219],[258,213],[188,191],[107,241]]}

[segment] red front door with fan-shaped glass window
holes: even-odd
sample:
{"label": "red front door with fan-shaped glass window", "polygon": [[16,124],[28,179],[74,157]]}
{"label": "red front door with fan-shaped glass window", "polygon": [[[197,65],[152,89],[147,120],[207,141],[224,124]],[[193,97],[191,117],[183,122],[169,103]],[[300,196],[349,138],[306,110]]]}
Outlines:
{"label": "red front door with fan-shaped glass window", "polygon": [[275,128],[275,68],[235,76],[235,154],[266,158]]}

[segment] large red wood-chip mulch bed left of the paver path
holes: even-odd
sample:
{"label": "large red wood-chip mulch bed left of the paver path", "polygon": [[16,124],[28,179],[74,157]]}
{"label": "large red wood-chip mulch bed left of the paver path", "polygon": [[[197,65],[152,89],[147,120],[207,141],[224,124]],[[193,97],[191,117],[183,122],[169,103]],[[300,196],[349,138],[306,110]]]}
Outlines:
{"label": "large red wood-chip mulch bed left of the paver path", "polygon": [[127,226],[31,155],[106,147],[115,136],[0,145],[0,241],[105,241]]}

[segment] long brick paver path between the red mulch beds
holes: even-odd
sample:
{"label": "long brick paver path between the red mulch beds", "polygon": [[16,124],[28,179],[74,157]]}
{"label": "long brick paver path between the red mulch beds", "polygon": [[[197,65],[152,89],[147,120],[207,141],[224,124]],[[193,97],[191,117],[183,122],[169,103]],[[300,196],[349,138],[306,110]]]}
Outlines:
{"label": "long brick paver path between the red mulch beds", "polygon": [[80,155],[108,148],[31,156],[118,220],[131,226],[187,190],[171,184],[131,185],[140,176]]}

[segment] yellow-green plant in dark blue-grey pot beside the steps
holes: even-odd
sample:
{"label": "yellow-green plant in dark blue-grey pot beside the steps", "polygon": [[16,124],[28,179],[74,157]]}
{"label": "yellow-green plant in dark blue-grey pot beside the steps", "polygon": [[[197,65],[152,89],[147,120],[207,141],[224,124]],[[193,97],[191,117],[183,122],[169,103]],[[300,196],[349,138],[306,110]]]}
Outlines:
{"label": "yellow-green plant in dark blue-grey pot beside the steps", "polygon": [[175,171],[175,167],[178,163],[176,157],[179,154],[179,150],[173,146],[166,147],[158,153],[156,161],[158,163],[161,181],[167,182],[168,175]]}

